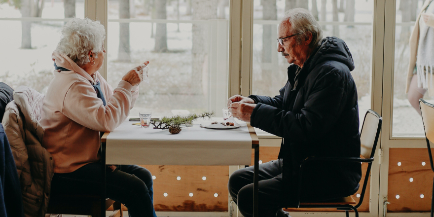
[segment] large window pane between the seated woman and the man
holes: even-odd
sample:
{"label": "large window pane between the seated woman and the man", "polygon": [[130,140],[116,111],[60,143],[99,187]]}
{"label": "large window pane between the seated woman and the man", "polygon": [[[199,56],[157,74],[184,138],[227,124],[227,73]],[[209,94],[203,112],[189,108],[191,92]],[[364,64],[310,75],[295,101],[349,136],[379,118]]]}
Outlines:
{"label": "large window pane between the seated woman and the man", "polygon": [[109,0],[108,82],[148,60],[130,115],[214,110],[227,101],[228,0]]}

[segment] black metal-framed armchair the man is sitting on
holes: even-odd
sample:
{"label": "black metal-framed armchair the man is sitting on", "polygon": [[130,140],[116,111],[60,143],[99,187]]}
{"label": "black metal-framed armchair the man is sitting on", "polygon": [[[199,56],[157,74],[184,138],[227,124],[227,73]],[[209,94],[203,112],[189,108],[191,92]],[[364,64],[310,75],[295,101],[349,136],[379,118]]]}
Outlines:
{"label": "black metal-framed armchair the man is sitting on", "polygon": [[[337,210],[344,210],[347,217],[349,217],[349,211],[354,210],[356,217],[359,217],[359,212],[357,208],[362,205],[363,196],[366,190],[366,185],[369,178],[369,173],[371,171],[372,162],[374,161],[375,148],[377,146],[378,137],[380,135],[381,124],[383,119],[381,116],[373,111],[367,110],[364,115],[362,132],[360,134],[361,140],[361,154],[364,158],[360,157],[308,157],[306,158],[300,165],[300,176],[298,182],[298,195],[297,195],[297,205],[295,208],[336,208]],[[359,203],[357,205],[356,201],[350,195],[348,197],[327,200],[327,201],[309,201],[302,200],[300,201],[302,192],[302,174],[303,174],[303,165],[307,162],[360,162],[360,163],[368,163],[366,175],[363,181],[362,193],[360,196]],[[355,205],[355,206],[353,206]]]}

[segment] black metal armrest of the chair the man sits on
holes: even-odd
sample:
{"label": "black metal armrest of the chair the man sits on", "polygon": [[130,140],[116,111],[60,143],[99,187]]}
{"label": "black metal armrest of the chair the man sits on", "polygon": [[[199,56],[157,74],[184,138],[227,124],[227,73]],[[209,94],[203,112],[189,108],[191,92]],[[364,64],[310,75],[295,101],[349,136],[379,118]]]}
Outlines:
{"label": "black metal armrest of the chair the man sits on", "polygon": [[374,161],[374,157],[363,159],[360,157],[308,157],[304,159],[300,164],[300,171],[298,174],[298,193],[297,193],[297,208],[300,206],[302,178],[303,178],[303,165],[306,162],[353,162],[353,163],[368,163],[371,164]]}

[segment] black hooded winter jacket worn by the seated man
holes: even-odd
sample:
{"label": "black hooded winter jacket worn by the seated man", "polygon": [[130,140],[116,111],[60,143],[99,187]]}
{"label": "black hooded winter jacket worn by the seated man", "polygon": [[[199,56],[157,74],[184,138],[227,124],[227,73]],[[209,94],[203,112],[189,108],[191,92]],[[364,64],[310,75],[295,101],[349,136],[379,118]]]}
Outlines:
{"label": "black hooded winter jacket worn by the seated man", "polygon": [[[251,125],[282,137],[283,180],[289,201],[296,197],[300,163],[309,156],[360,157],[359,106],[350,71],[354,62],[345,42],[326,37],[274,98],[249,96],[256,103]],[[303,172],[301,199],[345,197],[359,189],[360,163],[311,163]]]}

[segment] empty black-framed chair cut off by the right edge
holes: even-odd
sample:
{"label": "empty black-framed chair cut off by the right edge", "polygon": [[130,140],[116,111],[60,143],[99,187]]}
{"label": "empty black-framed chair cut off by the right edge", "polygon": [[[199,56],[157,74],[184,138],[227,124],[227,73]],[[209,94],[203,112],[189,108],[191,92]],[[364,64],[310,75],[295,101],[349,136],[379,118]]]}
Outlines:
{"label": "empty black-framed chair cut off by the right edge", "polygon": [[[434,172],[433,154],[431,154],[431,145],[430,145],[430,141],[434,141],[434,105],[427,103],[427,101],[423,99],[419,99],[419,107],[421,109],[422,122],[424,124],[425,139],[427,140],[428,155],[430,156],[431,169]],[[433,189],[434,189],[434,182],[433,182]],[[433,196],[431,198],[431,217],[433,217],[433,210],[434,210],[433,209],[434,191],[432,194]]]}

